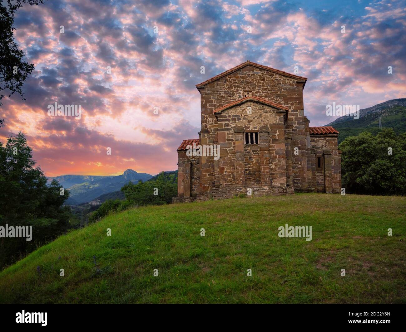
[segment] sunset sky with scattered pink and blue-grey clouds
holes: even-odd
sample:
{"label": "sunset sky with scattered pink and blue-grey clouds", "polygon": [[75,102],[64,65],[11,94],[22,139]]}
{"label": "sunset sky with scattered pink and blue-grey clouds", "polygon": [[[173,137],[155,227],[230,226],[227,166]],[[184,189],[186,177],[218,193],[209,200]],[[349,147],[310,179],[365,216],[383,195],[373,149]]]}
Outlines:
{"label": "sunset sky with scattered pink and blue-grey clouds", "polygon": [[[327,104],[362,109],[406,97],[405,7],[386,0],[26,4],[14,36],[35,70],[23,86],[26,100],[3,99],[0,141],[22,131],[47,176],[175,170],[177,147],[200,130],[195,85],[246,60],[289,73],[297,66],[308,77],[304,114],[322,126],[337,118],[326,116]],[[81,105],[82,116],[49,116],[55,102]]]}

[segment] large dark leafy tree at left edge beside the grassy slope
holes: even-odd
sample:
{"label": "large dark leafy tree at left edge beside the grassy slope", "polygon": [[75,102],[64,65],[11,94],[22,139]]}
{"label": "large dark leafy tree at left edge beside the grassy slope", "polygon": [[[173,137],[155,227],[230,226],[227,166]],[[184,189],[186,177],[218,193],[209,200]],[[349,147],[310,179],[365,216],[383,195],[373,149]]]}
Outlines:
{"label": "large dark leafy tree at left edge beside the grassy slope", "polygon": [[54,240],[67,231],[70,208],[62,206],[69,197],[60,195],[57,181],[47,184],[43,171],[32,160],[32,148],[24,135],[0,142],[0,226],[32,226],[32,240],[0,238],[0,268]]}

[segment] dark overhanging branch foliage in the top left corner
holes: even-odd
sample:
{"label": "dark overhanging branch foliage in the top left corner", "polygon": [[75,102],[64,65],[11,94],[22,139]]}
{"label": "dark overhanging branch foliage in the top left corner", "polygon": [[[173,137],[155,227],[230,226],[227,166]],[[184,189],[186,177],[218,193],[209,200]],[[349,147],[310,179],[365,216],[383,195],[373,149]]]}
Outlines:
{"label": "dark overhanging branch foliage in the top left corner", "polygon": [[0,106],[2,105],[1,100],[4,98],[2,93],[4,90],[7,91],[9,97],[17,92],[25,100],[21,88],[28,75],[34,70],[34,64],[23,61],[24,52],[18,49],[13,36],[15,11],[24,3],[37,5],[42,4],[43,0],[7,0],[0,2]]}

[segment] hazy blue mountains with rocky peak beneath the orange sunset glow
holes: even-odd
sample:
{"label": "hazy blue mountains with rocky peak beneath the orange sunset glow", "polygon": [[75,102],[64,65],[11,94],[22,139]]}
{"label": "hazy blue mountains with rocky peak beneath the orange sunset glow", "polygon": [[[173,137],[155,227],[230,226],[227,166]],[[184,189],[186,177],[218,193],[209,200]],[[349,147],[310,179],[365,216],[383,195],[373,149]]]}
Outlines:
{"label": "hazy blue mountains with rocky peak beneath the orange sunset glow", "polygon": [[151,174],[127,169],[118,176],[62,175],[48,178],[48,181],[55,179],[64,188],[68,188],[70,197],[67,203],[72,204],[89,202],[103,194],[119,191],[129,181],[137,183],[139,180],[147,181],[150,178],[152,178]]}

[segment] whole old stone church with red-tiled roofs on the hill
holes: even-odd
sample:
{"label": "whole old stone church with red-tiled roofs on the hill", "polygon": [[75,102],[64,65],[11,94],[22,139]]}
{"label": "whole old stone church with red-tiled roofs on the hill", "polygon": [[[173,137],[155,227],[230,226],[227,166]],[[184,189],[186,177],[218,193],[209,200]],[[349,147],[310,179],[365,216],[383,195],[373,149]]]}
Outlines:
{"label": "whole old stone church with red-tiled roofs on the hill", "polygon": [[[339,193],[339,133],[333,127],[309,127],[306,81],[248,60],[197,84],[201,131],[199,139],[185,139],[177,149],[173,201]],[[199,146],[217,154],[196,153]]]}

